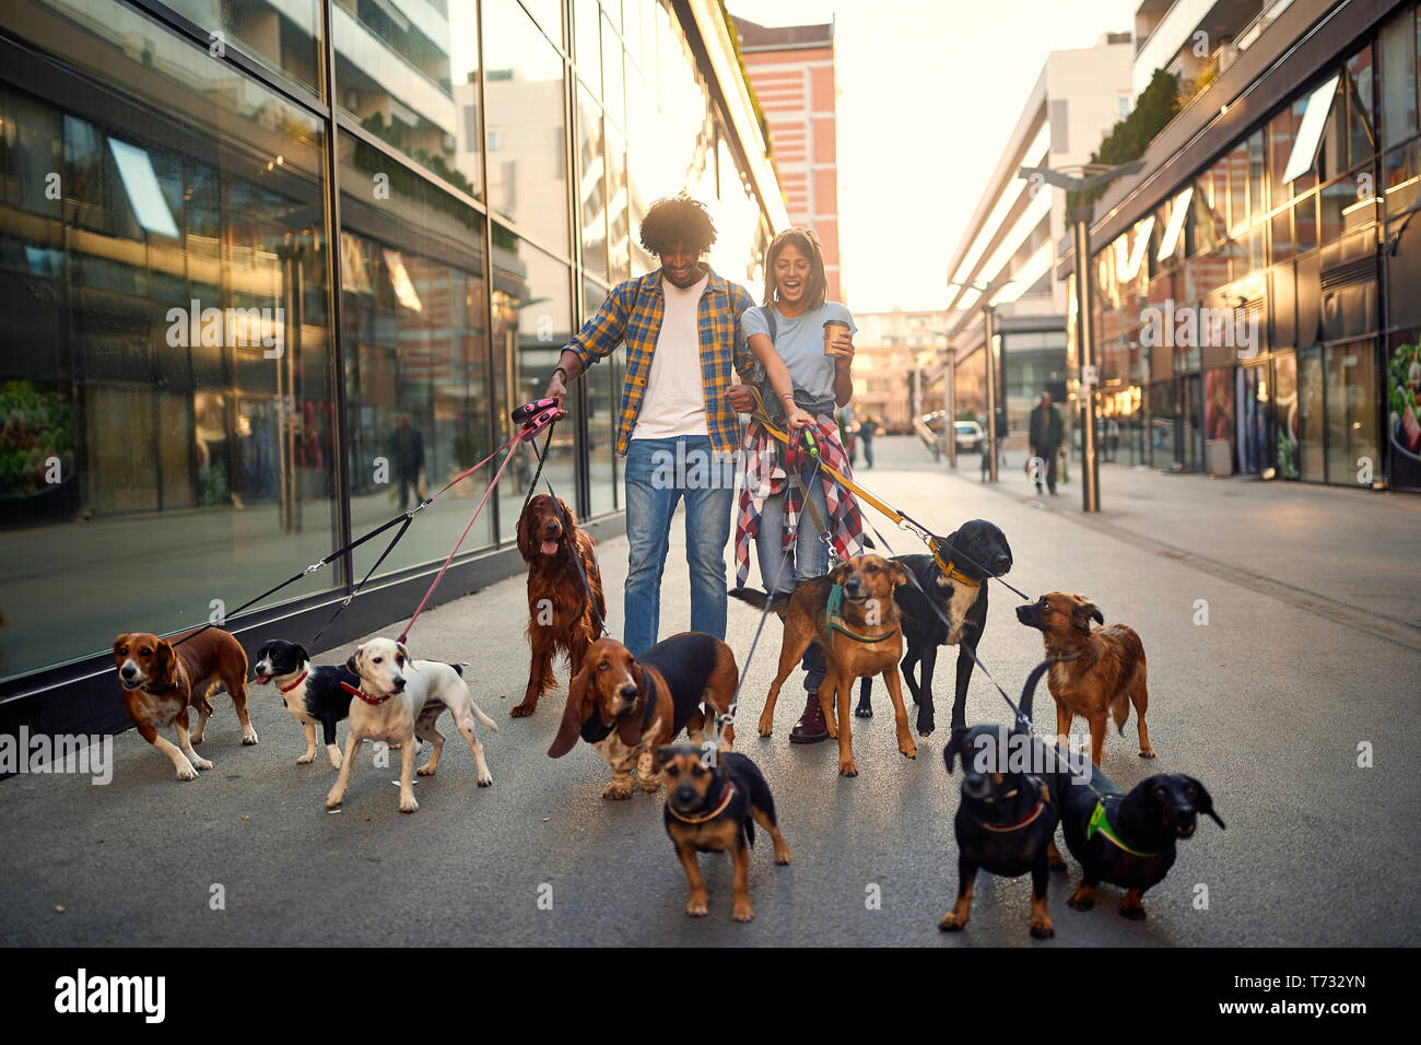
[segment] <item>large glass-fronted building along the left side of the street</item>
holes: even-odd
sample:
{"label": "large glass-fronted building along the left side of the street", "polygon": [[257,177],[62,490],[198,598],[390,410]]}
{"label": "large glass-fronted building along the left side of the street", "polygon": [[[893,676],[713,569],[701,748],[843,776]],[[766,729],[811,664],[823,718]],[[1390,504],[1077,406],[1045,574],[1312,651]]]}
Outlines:
{"label": "large glass-fronted building along the left side of the street", "polygon": [[[715,0],[6,3],[0,727],[124,727],[115,634],[227,620],[504,444],[655,264],[658,196],[706,200],[712,264],[757,286],[787,223],[764,154]],[[594,532],[620,365],[574,385],[544,472]],[[517,452],[438,599],[522,569]],[[414,609],[487,478],[325,643]],[[307,641],[384,546],[227,626]]]}

